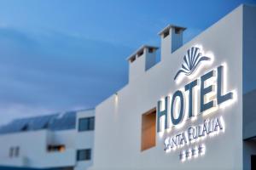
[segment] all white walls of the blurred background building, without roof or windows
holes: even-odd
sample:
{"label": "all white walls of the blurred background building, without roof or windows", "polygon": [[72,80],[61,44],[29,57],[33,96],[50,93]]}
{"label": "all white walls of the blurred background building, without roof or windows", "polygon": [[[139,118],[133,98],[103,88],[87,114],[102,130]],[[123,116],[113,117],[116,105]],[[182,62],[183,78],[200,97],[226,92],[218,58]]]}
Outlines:
{"label": "all white walls of the blurred background building, without roof or windows", "polygon": [[[81,117],[94,116],[94,110],[78,111],[76,128],[70,130],[37,130],[19,133],[6,133],[0,136],[0,166],[54,168],[74,167],[74,169],[87,169],[90,161],[77,161],[77,150],[92,149],[94,131],[78,131],[78,122]],[[47,146],[64,144],[64,151],[47,150]],[[17,157],[9,157],[11,147],[19,147]],[[91,156],[93,157],[93,156]]]}

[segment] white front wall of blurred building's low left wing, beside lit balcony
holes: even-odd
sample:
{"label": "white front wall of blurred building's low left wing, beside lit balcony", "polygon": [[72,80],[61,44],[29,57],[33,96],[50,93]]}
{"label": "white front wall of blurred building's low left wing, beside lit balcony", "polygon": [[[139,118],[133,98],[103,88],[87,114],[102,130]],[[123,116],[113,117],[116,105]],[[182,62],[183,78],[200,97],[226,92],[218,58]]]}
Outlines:
{"label": "white front wall of blurred building's low left wing, beside lit balcony", "polygon": [[[0,165],[15,167],[72,167],[74,150],[64,152],[47,152],[48,130],[9,133],[0,139]],[[11,147],[19,147],[18,157],[9,157]],[[19,161],[17,161],[19,160]]]}

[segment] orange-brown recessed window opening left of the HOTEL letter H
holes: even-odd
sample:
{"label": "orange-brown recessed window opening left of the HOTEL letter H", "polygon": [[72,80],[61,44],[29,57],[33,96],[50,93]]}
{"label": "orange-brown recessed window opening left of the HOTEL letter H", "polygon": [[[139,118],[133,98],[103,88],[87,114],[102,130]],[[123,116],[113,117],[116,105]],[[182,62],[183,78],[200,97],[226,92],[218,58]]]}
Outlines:
{"label": "orange-brown recessed window opening left of the HOTEL letter H", "polygon": [[141,151],[148,150],[155,146],[155,121],[156,109],[147,111],[142,116],[142,141]]}

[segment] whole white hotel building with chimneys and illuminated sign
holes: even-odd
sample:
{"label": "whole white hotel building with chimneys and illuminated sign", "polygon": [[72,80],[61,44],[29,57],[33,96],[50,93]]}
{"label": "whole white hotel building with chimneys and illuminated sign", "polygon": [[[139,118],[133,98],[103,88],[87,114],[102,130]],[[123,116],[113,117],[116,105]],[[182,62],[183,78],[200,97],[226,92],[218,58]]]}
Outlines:
{"label": "whole white hotel building with chimneys and illuminated sign", "polygon": [[128,57],[129,83],[96,106],[90,170],[253,169],[256,8],[241,5],[190,42],[182,26]]}

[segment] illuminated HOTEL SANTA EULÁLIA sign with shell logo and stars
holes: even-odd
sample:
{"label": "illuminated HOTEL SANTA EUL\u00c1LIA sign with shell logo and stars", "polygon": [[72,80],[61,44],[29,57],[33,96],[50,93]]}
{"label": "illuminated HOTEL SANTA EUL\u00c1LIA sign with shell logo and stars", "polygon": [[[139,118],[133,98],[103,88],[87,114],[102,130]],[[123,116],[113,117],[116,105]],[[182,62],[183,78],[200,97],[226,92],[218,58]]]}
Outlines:
{"label": "illuminated HOTEL SANTA EUL\u00c1LIA sign with shell logo and stars", "polygon": [[[190,79],[195,77],[200,67],[212,63],[212,60],[213,58],[204,54],[201,48],[189,48],[183,57],[183,65],[177,71],[174,81],[179,84],[185,77]],[[164,133],[165,130],[170,130],[172,127],[183,127],[187,122],[186,120],[194,120],[199,115],[207,115],[218,110],[219,106],[233,100],[235,92],[225,89],[225,69],[227,69],[226,65],[218,65],[201,77],[194,78],[172,95],[158,101],[157,132]],[[199,111],[196,111],[196,105],[198,105]],[[166,137],[164,143],[166,152],[181,149],[188,144],[193,145],[194,142],[207,136],[224,132],[222,116],[207,118],[203,122],[197,123],[179,133]],[[181,161],[185,161],[193,156],[203,155],[205,150],[206,146],[199,142],[194,147],[181,150],[179,158]]]}

